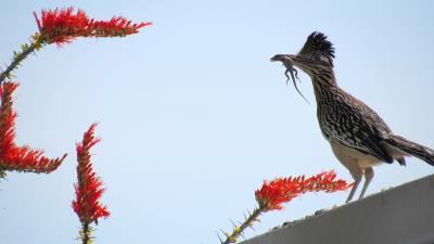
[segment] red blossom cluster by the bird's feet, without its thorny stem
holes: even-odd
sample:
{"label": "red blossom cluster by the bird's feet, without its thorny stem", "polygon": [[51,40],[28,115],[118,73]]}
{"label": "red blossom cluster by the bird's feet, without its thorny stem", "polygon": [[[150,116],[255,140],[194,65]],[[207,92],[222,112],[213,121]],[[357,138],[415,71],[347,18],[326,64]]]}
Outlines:
{"label": "red blossom cluster by the bird's feet, without its thorny stem", "polygon": [[263,187],[255,192],[259,207],[267,210],[282,209],[282,203],[299,196],[306,192],[335,192],[345,191],[352,184],[345,180],[336,180],[336,174],[331,170],[321,172],[305,179],[304,176],[278,178],[272,181],[265,181]]}

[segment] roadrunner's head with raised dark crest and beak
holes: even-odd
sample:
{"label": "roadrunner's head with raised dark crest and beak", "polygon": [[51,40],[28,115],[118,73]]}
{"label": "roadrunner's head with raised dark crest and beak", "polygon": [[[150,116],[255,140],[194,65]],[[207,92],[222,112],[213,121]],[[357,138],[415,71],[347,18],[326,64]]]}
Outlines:
{"label": "roadrunner's head with raised dark crest and beak", "polygon": [[[322,33],[315,31],[307,37],[306,43],[297,54],[277,54],[271,57],[271,62],[280,61],[292,63],[302,68],[305,73],[312,76],[315,68],[333,68],[334,47],[327,40]],[[288,65],[285,64],[288,67]]]}

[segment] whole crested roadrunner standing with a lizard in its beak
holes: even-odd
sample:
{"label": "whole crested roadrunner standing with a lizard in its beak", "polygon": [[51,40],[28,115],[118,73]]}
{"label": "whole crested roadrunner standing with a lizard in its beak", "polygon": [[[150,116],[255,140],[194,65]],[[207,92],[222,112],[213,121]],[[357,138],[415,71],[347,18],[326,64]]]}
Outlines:
{"label": "whole crested roadrunner standing with a lizard in its beak", "polygon": [[298,54],[278,54],[271,61],[283,62],[285,75],[298,67],[310,76],[317,100],[317,117],[323,137],[337,159],[354,178],[349,202],[365,175],[360,193],[363,197],[373,178],[372,166],[397,160],[405,166],[405,156],[416,156],[434,166],[434,151],[392,132],[383,119],[363,102],[342,90],[333,72],[333,44],[321,33],[312,33]]}

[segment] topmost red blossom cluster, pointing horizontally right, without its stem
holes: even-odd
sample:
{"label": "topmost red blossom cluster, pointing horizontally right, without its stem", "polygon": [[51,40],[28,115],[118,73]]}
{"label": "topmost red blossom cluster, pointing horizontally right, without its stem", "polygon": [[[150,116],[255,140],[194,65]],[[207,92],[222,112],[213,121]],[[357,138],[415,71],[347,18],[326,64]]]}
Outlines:
{"label": "topmost red blossom cluster, pointing horizontally right, without its stem", "polygon": [[85,11],[74,8],[42,10],[39,18],[34,12],[36,23],[46,43],[67,43],[77,37],[125,37],[136,34],[140,28],[152,25],[150,22],[131,24],[122,16],[110,21],[94,21]]}

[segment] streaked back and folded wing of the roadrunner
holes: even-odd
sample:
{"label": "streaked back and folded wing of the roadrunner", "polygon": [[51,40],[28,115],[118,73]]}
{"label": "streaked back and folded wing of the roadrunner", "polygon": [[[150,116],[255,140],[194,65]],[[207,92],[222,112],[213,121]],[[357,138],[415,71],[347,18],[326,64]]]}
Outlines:
{"label": "streaked back and folded wing of the roadrunner", "polygon": [[317,116],[324,138],[392,163],[392,156],[381,145],[381,140],[391,133],[383,119],[336,85],[314,82]]}

